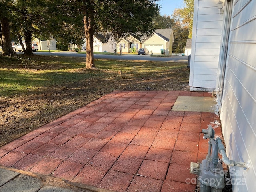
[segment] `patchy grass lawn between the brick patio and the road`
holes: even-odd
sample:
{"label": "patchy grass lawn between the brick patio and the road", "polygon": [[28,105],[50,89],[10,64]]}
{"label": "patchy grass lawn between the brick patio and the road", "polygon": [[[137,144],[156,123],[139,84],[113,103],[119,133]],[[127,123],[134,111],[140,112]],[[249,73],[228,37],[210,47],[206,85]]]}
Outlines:
{"label": "patchy grass lawn between the brick patio and the road", "polygon": [[[186,63],[0,56],[0,145],[114,90],[187,90]],[[121,75],[118,74],[121,71]]]}

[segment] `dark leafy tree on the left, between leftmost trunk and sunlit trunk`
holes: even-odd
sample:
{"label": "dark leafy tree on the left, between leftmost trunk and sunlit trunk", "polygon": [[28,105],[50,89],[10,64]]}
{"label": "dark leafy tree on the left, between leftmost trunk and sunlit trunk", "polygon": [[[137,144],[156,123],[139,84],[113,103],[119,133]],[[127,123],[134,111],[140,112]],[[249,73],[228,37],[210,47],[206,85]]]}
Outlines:
{"label": "dark leafy tree on the left, between leftmost trunk and sunlit trunk", "polygon": [[[80,44],[82,32],[82,14],[80,4],[75,0],[8,0],[12,8],[8,11],[11,16],[10,29],[15,35],[24,54],[33,54],[32,38],[46,40],[50,37],[61,38],[64,42]],[[6,9],[4,7],[3,9]],[[25,40],[26,49],[22,38]]]}

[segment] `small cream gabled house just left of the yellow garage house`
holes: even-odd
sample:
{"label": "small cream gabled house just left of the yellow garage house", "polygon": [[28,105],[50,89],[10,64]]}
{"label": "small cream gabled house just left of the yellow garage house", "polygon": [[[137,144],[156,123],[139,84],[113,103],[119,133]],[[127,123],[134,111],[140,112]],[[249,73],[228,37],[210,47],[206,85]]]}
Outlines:
{"label": "small cream gabled house just left of the yellow garage house", "polygon": [[116,42],[117,53],[120,53],[120,49],[122,49],[122,53],[132,52],[132,48],[134,47],[136,50],[140,48],[140,38],[133,34],[127,34]]}

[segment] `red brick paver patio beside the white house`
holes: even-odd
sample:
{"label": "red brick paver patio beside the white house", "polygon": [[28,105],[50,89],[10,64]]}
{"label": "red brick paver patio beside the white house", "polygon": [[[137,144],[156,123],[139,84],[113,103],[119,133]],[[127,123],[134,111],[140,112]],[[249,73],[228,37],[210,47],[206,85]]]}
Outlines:
{"label": "red brick paver patio beside the white house", "polygon": [[114,91],[2,146],[0,165],[118,192],[195,190],[200,130],[219,116],[172,111],[178,96],[211,94]]}

